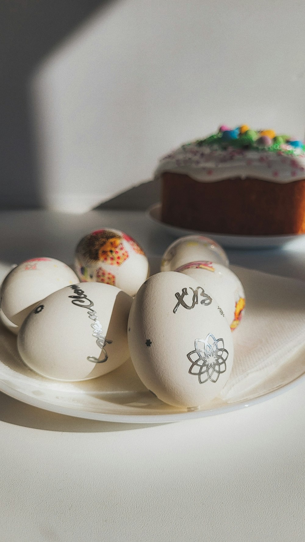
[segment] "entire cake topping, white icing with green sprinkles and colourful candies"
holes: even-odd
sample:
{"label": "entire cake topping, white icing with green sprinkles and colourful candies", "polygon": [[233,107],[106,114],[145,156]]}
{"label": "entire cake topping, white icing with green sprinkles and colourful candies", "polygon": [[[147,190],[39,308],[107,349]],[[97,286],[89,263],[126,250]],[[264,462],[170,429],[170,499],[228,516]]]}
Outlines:
{"label": "entire cake topping, white icing with green sprinkles and colourful candies", "polygon": [[182,145],[160,160],[155,176],[166,171],[182,173],[206,183],[231,177],[275,183],[305,178],[303,141],[277,136],[272,130],[245,131],[245,127],[224,130],[227,126],[221,126],[218,133],[206,139]]}

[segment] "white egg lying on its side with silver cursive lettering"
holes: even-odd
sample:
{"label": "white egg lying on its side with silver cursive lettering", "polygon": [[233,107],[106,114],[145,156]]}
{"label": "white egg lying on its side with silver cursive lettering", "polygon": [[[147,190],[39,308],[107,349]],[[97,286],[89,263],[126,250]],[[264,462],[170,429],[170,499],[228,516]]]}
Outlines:
{"label": "white egg lying on its side with silver cursive lettering", "polygon": [[129,358],[127,323],[132,298],[119,288],[87,282],[62,288],[23,322],[18,350],[47,378],[87,380]]}

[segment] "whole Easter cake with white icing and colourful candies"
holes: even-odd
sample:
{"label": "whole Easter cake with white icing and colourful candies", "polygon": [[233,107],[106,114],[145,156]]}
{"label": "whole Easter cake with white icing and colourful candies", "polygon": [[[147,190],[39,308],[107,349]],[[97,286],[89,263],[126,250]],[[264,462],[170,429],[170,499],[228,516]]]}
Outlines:
{"label": "whole Easter cake with white icing and colourful candies", "polygon": [[161,220],[238,235],[305,232],[304,141],[243,125],[182,145],[160,160]]}

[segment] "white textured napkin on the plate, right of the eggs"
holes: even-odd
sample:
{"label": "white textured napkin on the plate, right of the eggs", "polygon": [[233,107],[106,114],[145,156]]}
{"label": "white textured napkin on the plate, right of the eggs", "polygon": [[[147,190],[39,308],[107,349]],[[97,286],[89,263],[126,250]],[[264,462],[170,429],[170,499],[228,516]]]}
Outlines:
{"label": "white textured napkin on the plate, right of the eggs", "polygon": [[263,395],[305,371],[305,282],[232,266],[246,294],[233,331],[234,363],[221,392],[228,403]]}

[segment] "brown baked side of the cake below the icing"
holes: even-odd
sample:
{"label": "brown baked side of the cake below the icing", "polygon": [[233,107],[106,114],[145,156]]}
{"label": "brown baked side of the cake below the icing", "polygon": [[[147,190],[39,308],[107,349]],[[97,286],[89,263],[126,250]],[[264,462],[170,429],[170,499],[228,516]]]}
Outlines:
{"label": "brown baked side of the cake below the icing", "polygon": [[180,228],[237,235],[305,232],[305,179],[270,183],[230,178],[201,183],[165,172],[161,220]]}

